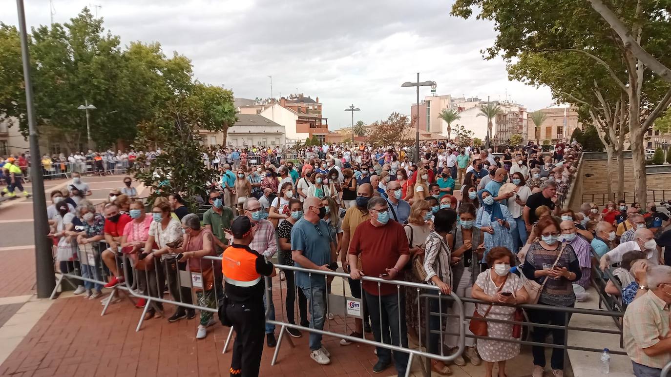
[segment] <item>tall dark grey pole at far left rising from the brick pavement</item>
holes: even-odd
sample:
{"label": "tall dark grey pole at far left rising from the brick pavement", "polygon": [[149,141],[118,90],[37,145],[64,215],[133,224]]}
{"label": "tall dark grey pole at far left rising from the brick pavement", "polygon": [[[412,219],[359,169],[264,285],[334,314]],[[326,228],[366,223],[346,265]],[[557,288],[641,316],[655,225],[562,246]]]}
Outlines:
{"label": "tall dark grey pole at far left rising from the brick pavement", "polygon": [[28,53],[28,34],[25,27],[25,9],[23,0],[16,0],[19,15],[19,37],[21,40],[21,62],[23,63],[23,82],[25,83],[25,107],[28,113],[28,139],[30,141],[30,179],[33,182],[33,231],[35,234],[35,272],[38,298],[50,297],[56,279],[54,279],[54,259],[52,242],[47,237],[49,222],[46,217],[46,198],[44,197],[44,181],[40,166],[40,144],[38,131],[35,127],[35,106],[33,104],[33,84],[30,78],[30,54]]}

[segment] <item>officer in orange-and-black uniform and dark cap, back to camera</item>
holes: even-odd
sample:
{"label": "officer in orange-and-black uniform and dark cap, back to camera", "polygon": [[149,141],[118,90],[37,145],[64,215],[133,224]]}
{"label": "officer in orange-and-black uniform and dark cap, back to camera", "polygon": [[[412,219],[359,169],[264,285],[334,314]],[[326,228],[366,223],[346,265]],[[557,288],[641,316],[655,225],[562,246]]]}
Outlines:
{"label": "officer in orange-and-black uniform and dark cap, back to camera", "polygon": [[[231,224],[234,238],[242,239],[252,232],[247,216]],[[231,360],[232,376],[258,376],[266,329],[263,305],[264,276],[274,267],[249,246],[233,243],[221,254],[221,271],[225,283],[225,313],[236,329]]]}

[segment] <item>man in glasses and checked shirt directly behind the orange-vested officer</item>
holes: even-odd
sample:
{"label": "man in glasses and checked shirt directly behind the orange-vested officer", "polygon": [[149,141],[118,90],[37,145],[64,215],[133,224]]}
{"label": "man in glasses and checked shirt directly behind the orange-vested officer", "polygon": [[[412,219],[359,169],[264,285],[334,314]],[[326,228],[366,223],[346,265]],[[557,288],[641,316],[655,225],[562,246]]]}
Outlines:
{"label": "man in glasses and checked shirt directly behind the orange-vested officer", "polygon": [[[252,242],[250,242],[250,248],[258,251],[258,253],[262,254],[266,260],[270,260],[277,252],[275,228],[272,226],[272,222],[262,218],[263,211],[261,210],[261,204],[254,198],[246,200],[242,209],[244,210],[245,216],[250,219],[252,226],[254,227],[254,238],[252,238]],[[272,287],[272,285],[270,287]],[[265,302],[266,300],[264,297],[264,303]],[[275,319],[275,307],[272,300],[270,300],[270,319]],[[266,323],[266,343],[270,348],[277,344],[274,331],[275,326]]]}

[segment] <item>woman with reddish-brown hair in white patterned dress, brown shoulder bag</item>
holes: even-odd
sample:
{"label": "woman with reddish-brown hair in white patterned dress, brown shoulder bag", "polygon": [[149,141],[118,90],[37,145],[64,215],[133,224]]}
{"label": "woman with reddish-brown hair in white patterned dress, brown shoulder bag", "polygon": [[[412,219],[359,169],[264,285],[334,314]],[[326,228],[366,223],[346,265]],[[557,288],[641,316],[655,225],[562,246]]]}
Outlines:
{"label": "woman with reddish-brown hair in white patterned dress, brown shoulder bag", "polygon": [[[507,248],[495,247],[487,254],[486,260],[489,269],[478,275],[478,279],[473,285],[473,297],[488,303],[513,305],[525,303],[529,299],[527,291],[521,279],[510,272],[511,266],[515,262],[513,253]],[[513,321],[515,307],[478,304],[478,313],[488,319]],[[563,313],[559,314],[563,317]],[[513,337],[513,325],[509,323],[488,322],[487,332],[490,337],[515,339]],[[563,352],[562,350],[559,351]],[[519,344],[478,339],[478,352],[486,365],[486,377],[493,376],[494,363],[499,364],[498,376],[506,377],[505,364],[507,360],[519,355]],[[535,372],[533,376],[536,376]],[[542,372],[538,376],[542,377]]]}

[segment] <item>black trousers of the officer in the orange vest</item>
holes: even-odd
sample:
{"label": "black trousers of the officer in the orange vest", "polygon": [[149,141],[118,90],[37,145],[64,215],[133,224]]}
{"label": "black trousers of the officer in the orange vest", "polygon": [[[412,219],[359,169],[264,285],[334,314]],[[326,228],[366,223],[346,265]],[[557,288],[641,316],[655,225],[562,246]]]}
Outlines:
{"label": "black trousers of the officer in the orange vest", "polygon": [[254,298],[246,303],[229,304],[226,314],[236,329],[231,376],[258,377],[266,333],[262,298]]}

